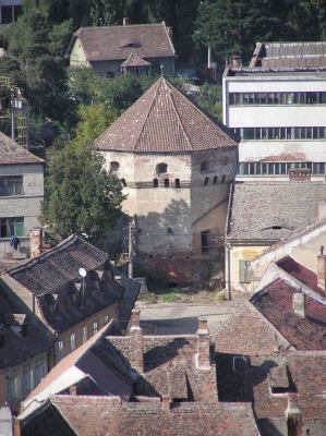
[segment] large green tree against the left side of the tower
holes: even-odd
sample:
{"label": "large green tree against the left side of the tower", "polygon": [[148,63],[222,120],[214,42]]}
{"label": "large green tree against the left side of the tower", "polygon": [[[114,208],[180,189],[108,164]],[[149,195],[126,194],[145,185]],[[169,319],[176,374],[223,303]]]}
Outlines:
{"label": "large green tree against the left side of the tower", "polygon": [[68,146],[55,157],[39,217],[52,234],[86,233],[96,239],[116,225],[125,196],[120,180],[102,164],[89,144]]}

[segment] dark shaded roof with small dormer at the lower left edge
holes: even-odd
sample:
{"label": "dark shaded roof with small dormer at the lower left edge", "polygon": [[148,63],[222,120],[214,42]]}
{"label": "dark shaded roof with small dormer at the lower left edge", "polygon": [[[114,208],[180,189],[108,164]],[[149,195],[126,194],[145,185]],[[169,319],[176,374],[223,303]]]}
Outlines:
{"label": "dark shaded roof with small dormer at the lower left edge", "polygon": [[[20,325],[15,319],[27,324],[26,337],[23,338],[11,329],[12,325]],[[17,365],[53,347],[52,340],[45,335],[40,326],[34,324],[25,314],[17,314],[17,307],[2,288],[0,288],[0,330],[4,335],[3,347],[0,348],[0,370]]]}

